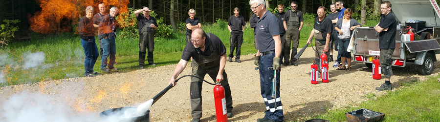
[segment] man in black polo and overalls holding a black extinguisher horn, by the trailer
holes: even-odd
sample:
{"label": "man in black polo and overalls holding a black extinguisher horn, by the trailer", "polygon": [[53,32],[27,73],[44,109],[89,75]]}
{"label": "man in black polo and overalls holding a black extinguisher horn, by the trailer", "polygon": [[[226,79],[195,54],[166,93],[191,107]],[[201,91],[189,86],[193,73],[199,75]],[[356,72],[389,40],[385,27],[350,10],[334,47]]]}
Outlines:
{"label": "man in black polo and overalls holding a black extinguisher horn, by the trailer", "polygon": [[[315,37],[315,47],[316,49],[321,52],[326,52],[326,55],[330,55],[329,51],[329,43],[330,43],[330,33],[333,31],[332,27],[333,24],[331,23],[331,20],[326,17],[326,11],[324,6],[318,7],[318,17],[313,22],[313,29],[310,32],[310,36],[308,37],[307,43],[311,42],[311,39],[313,36]],[[322,52],[321,52],[322,53]],[[319,69],[321,69],[321,60],[320,60],[320,53],[315,52],[315,62],[318,63]],[[321,70],[319,70],[321,71]]]}

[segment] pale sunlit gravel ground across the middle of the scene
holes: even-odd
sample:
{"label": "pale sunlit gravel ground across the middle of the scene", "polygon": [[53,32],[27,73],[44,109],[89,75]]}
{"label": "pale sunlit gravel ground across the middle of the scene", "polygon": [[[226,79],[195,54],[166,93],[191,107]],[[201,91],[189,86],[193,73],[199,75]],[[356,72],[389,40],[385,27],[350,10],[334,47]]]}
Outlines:
{"label": "pale sunlit gravel ground across the middle of the scene", "polygon": [[[299,49],[298,49],[299,50]],[[337,52],[335,52],[337,54]],[[354,105],[368,100],[368,94],[382,95],[386,92],[374,88],[384,80],[372,79],[371,69],[364,63],[352,62],[352,71],[340,71],[331,67],[330,82],[311,84],[308,72],[314,54],[311,48],[306,49],[298,60],[299,66],[282,66],[281,100],[286,121],[307,120],[309,117],[326,113],[330,109]],[[336,59],[336,55],[333,56]],[[439,57],[439,55],[437,55]],[[234,102],[233,118],[230,122],[255,122],[264,117],[264,101],[260,95],[260,78],[253,63],[253,55],[244,55],[242,62],[227,62],[225,71],[228,75]],[[124,63],[124,62],[118,62]],[[433,74],[439,72],[439,62],[435,62]],[[116,65],[117,67],[117,65]],[[125,73],[112,73],[92,78],[71,78],[44,81],[32,84],[5,86],[0,88],[1,108],[11,101],[14,94],[26,92],[33,97],[36,93],[57,98],[53,104],[64,103],[68,109],[78,113],[98,116],[101,111],[110,108],[136,106],[152,99],[163,90],[169,82],[176,64],[159,66],[150,69]],[[393,67],[393,91],[399,89],[403,82],[425,80],[426,76],[418,74],[417,65],[410,63],[407,67]],[[191,74],[190,64],[180,76]],[[205,80],[211,81],[206,77]],[[215,122],[213,85],[204,83],[202,122]],[[190,79],[181,79],[150,108],[151,122],[190,122]],[[27,102],[26,102],[27,103]],[[32,104],[32,102],[29,102]],[[47,104],[46,104],[47,105]],[[50,103],[48,104],[51,105]],[[3,115],[4,116],[4,115]],[[344,116],[344,115],[341,115]]]}

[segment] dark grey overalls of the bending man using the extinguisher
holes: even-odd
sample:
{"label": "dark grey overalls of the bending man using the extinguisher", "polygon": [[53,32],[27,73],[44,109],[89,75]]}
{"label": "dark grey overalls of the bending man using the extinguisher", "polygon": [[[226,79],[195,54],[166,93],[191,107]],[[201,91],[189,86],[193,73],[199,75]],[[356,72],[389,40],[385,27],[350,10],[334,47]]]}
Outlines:
{"label": "dark grey overalls of the bending man using the extinguisher", "polygon": [[[209,45],[209,50],[211,50],[210,56],[203,56],[203,52],[200,48],[196,48],[198,52],[198,66],[193,67],[192,75],[204,78],[206,74],[211,77],[213,81],[216,81],[217,74],[220,68],[220,55],[213,48],[213,44]],[[207,47],[207,48],[208,48]],[[206,50],[205,50],[206,51]],[[226,72],[223,70],[223,81],[220,81],[221,86],[224,87],[225,99],[226,99],[226,110],[228,113],[232,112],[232,97],[231,88],[228,84],[228,77]],[[214,86],[213,86],[214,87]],[[199,119],[202,115],[202,80],[198,78],[191,78],[191,116],[193,119]],[[213,102],[213,101],[212,101]]]}

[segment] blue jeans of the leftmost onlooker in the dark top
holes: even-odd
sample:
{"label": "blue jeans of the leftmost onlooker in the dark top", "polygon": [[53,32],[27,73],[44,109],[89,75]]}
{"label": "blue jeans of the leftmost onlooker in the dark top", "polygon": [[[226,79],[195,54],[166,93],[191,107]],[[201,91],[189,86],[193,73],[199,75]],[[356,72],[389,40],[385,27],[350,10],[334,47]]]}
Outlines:
{"label": "blue jeans of the leftmost onlooker in the dark top", "polygon": [[84,48],[84,54],[86,54],[86,59],[84,60],[84,67],[86,69],[85,75],[93,73],[93,66],[96,63],[96,59],[99,57],[98,47],[96,46],[95,39],[90,39],[85,41],[81,39],[81,45]]}

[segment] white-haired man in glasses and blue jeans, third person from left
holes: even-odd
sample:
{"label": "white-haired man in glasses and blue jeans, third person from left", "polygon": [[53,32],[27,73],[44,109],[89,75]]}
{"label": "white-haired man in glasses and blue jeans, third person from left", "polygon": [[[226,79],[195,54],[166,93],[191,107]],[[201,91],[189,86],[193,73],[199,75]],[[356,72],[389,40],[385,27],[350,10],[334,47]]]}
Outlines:
{"label": "white-haired man in glasses and blue jeans, third person from left", "polygon": [[[116,67],[114,67],[114,62],[116,60],[116,22],[114,17],[118,13],[118,8],[113,6],[110,8],[110,14],[102,17],[101,22],[99,23],[98,35],[99,40],[102,43],[103,55],[101,57],[101,70],[104,72],[108,71],[118,71]],[[110,61],[107,67],[107,58],[110,55]]]}

